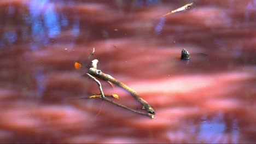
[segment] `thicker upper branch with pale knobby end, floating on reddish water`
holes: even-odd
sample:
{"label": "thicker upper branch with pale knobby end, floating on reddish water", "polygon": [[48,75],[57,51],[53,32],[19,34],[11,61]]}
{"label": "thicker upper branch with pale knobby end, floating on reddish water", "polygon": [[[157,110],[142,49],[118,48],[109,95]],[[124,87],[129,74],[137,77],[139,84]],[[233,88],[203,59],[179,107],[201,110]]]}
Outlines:
{"label": "thicker upper branch with pale knobby end, floating on reddish water", "polygon": [[[132,88],[130,88],[129,86],[125,85],[123,82],[118,81],[117,79],[115,79],[114,77],[108,75],[108,74],[104,74],[101,70],[97,69],[97,63],[98,60],[94,59],[91,63],[91,68],[89,69],[88,73],[98,77],[99,79],[102,79],[104,81],[109,81],[114,83],[115,85],[125,89],[127,92],[129,92],[139,103],[141,103],[142,105],[144,105],[145,109],[147,110],[148,113],[151,113],[153,115],[155,115],[155,111],[153,109],[152,106],[150,106],[148,104],[148,102],[144,99],[142,99]],[[87,73],[86,73],[87,74]]]}

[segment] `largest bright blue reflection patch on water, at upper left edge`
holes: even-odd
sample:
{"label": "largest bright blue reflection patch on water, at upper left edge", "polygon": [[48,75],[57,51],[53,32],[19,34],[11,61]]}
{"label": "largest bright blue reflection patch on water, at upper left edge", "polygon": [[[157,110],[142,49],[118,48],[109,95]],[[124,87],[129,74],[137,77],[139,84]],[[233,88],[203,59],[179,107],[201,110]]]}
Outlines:
{"label": "largest bright blue reflection patch on water, at upper left edge", "polygon": [[[55,11],[55,5],[48,0],[33,0],[28,4],[28,9],[30,16],[25,16],[24,20],[27,25],[31,25],[32,50],[38,50],[40,45],[48,46],[49,38],[61,33],[61,25],[68,24],[67,19],[64,22],[60,21],[65,16],[60,17]],[[28,34],[30,33],[24,31],[22,37],[25,38]]]}

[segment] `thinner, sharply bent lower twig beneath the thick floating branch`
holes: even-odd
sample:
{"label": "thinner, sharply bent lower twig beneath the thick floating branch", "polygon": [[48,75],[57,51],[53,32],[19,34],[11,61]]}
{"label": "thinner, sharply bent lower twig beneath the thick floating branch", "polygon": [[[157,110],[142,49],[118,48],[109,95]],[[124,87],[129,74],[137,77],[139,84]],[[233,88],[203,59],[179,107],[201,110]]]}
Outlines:
{"label": "thinner, sharply bent lower twig beneath the thick floating branch", "polygon": [[[102,87],[101,87],[101,82],[98,81],[97,79],[95,79],[94,76],[92,76],[92,75],[90,75],[90,74],[88,74],[88,73],[86,73],[86,74],[87,74],[88,76],[90,76],[91,79],[94,80],[94,81],[97,83],[98,88],[100,89],[101,94],[103,94]],[[152,113],[146,113],[146,112],[141,112],[141,111],[133,110],[133,109],[131,109],[130,107],[127,107],[127,106],[125,106],[125,105],[119,104],[119,103],[117,103],[117,102],[115,102],[115,101],[113,101],[113,100],[110,100],[110,99],[104,97],[104,95],[103,95],[103,97],[102,97],[102,95],[101,95],[100,99],[106,100],[106,101],[108,101],[109,103],[112,103],[112,104],[114,104],[114,105],[123,107],[124,109],[130,110],[130,111],[132,111],[132,112],[135,112],[135,113],[138,113],[138,114],[141,114],[141,115],[144,115],[144,116],[148,116],[148,117],[150,117],[150,118],[154,118],[154,115],[152,115]]]}

